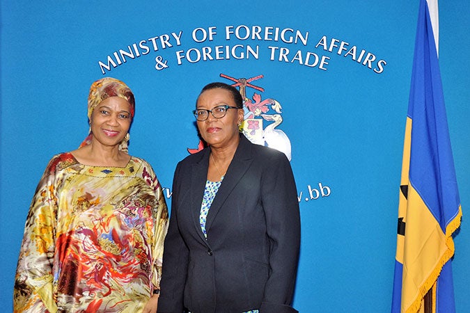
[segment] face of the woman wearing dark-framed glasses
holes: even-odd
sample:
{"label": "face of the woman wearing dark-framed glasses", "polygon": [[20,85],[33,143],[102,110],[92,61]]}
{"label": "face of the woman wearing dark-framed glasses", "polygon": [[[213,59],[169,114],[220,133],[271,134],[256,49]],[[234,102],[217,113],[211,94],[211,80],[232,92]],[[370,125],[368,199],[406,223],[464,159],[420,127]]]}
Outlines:
{"label": "face of the woman wearing dark-framed glasses", "polygon": [[[212,110],[216,106],[227,104],[236,106],[230,91],[222,88],[205,90],[198,97],[196,109]],[[243,109],[228,109],[223,118],[214,118],[209,113],[207,120],[197,121],[199,133],[212,147],[226,147],[238,142],[238,125],[243,121]]]}

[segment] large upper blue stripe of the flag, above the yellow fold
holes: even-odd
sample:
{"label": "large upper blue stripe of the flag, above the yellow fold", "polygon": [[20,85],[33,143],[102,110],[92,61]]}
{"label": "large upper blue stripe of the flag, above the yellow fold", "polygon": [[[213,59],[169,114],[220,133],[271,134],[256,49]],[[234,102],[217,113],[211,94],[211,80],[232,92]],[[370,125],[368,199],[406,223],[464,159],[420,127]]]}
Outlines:
{"label": "large upper blue stripe of the flag, above the yellow fold", "polygon": [[439,61],[428,5],[421,0],[408,115],[413,120],[409,181],[443,232],[457,216],[459,195]]}

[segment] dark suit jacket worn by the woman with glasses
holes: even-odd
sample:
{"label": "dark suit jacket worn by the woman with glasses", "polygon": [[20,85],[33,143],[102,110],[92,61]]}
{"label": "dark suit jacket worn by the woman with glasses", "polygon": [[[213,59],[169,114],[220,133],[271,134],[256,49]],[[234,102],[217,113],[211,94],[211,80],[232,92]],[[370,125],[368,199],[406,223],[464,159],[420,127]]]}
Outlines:
{"label": "dark suit jacket worn by the woman with glasses", "polygon": [[199,213],[210,147],[178,163],[158,313],[297,312],[290,307],[300,244],[297,189],[282,152],[240,137],[207,215]]}

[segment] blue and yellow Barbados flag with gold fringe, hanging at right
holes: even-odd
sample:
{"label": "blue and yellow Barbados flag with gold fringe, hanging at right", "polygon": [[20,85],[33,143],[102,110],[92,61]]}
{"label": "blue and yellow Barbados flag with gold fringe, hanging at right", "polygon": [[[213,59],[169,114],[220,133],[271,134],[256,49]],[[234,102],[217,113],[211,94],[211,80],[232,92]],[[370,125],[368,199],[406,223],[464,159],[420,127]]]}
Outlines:
{"label": "blue and yellow Barbados flag with gold fringe, hanging at right", "polygon": [[421,0],[403,148],[392,312],[455,312],[452,234],[460,226],[462,207],[439,73],[438,19],[432,17],[437,17],[437,0]]}

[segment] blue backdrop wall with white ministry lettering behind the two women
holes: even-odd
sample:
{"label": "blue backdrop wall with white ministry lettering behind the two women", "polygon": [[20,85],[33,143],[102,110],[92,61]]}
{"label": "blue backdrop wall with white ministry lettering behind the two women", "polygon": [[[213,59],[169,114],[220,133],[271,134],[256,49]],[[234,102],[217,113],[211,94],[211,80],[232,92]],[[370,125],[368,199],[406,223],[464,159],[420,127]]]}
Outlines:
{"label": "blue backdrop wall with white ministry lettering behind the two women", "polygon": [[[439,6],[464,211],[455,301],[465,312],[470,4]],[[170,204],[175,165],[198,145],[196,96],[211,81],[245,78],[255,87],[246,86],[248,131],[288,138],[292,152],[302,223],[295,307],[389,312],[417,10],[405,0],[2,1],[0,306],[11,311],[24,220],[47,161],[87,134],[93,81],[115,77],[134,91],[130,153],[152,164]]]}

